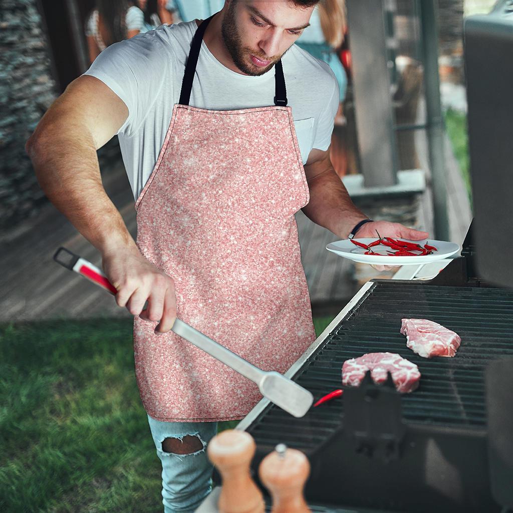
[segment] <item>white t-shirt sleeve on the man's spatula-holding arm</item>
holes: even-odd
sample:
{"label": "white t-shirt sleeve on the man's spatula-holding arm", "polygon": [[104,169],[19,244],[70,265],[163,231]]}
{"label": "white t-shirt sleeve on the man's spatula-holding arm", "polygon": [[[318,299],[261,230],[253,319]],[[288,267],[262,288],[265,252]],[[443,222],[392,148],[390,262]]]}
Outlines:
{"label": "white t-shirt sleeve on the man's spatula-holding arm", "polygon": [[141,127],[169,73],[169,52],[153,32],[110,45],[84,73],[101,80],[123,100],[128,117],[117,133],[127,137]]}

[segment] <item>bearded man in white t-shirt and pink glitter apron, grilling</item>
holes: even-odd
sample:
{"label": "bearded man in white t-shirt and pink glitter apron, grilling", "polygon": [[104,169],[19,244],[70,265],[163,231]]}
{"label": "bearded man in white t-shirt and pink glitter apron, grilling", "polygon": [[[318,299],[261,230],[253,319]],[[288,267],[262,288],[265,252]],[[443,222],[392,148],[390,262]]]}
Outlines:
{"label": "bearded man in white t-shirt and pink glitter apron, grilling", "polygon": [[[113,45],[27,143],[47,196],[101,251],[117,304],[135,316],[136,378],[166,513],[201,503],[216,423],[244,418],[261,398],[171,332],[176,314],[251,363],[285,372],[315,338],[295,212],[340,239],[376,229],[427,236],[367,220],[333,170],[337,82],[293,45],[316,3],[226,0],[203,23]],[[136,243],[98,169],[96,149],[116,133]]]}

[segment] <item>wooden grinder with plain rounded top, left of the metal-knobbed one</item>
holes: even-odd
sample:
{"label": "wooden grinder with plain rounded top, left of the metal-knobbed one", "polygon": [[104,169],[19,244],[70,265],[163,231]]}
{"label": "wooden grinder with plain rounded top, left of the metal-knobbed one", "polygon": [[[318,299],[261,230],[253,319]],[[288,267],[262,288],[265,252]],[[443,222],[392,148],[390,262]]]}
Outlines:
{"label": "wooden grinder with plain rounded top, left of the metal-knobbed one", "polygon": [[262,492],[249,473],[256,448],[249,433],[236,429],[227,429],[210,440],[207,455],[223,479],[219,513],[264,513]]}

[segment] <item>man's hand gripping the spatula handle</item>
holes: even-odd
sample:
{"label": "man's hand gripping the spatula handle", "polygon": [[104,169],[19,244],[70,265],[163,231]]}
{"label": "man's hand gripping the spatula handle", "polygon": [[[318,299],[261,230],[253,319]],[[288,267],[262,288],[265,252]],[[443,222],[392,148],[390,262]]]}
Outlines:
{"label": "man's hand gripping the spatula handle", "polygon": [[[168,332],[176,319],[174,281],[155,267],[139,249],[110,250],[102,254],[102,266],[117,290],[116,303],[148,322],[160,321],[155,333]],[[144,304],[148,301],[147,308]]]}

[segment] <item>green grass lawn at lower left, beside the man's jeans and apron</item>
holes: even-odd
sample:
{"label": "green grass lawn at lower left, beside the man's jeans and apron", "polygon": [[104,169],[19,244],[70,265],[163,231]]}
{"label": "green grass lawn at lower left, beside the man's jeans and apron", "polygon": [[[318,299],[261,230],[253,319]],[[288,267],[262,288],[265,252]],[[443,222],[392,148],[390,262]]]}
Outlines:
{"label": "green grass lawn at lower left, beside the man's jeans and apron", "polygon": [[0,398],[2,513],[162,510],[130,320],[0,326]]}

